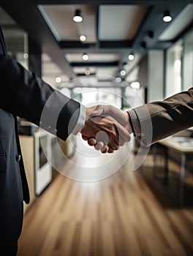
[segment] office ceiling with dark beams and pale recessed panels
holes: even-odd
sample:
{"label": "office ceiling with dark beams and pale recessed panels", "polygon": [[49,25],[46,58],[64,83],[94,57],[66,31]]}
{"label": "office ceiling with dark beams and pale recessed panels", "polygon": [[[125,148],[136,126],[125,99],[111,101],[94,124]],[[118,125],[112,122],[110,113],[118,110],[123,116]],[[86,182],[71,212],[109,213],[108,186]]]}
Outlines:
{"label": "office ceiling with dark beams and pale recessed panels", "polygon": [[[42,48],[43,76],[60,76],[61,83],[88,69],[91,75],[102,75],[103,83],[114,77],[132,82],[148,50],[167,49],[193,26],[193,1],[186,0],[4,1],[1,7]],[[81,23],[72,20],[77,9]],[[165,10],[173,17],[170,23],[162,20]],[[86,35],[85,42],[80,34]],[[87,61],[83,53],[88,54]],[[130,53],[135,55],[132,61]]]}

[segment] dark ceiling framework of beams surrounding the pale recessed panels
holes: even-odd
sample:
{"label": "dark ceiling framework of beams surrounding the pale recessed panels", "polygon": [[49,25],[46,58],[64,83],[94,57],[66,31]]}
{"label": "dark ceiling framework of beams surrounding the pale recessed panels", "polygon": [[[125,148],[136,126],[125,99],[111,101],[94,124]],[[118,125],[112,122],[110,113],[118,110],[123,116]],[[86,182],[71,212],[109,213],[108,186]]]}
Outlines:
{"label": "dark ceiling framework of beams surrounding the pale recessed panels", "polygon": [[[175,18],[183,7],[188,3],[193,3],[193,1],[172,1],[172,0],[154,0],[154,1],[127,1],[127,0],[26,0],[26,1],[12,1],[12,4],[8,1],[1,3],[1,6],[4,10],[12,16],[12,18],[18,23],[18,25],[29,33],[29,36],[34,39],[39,47],[45,53],[48,53],[53,61],[55,61],[61,69],[65,70],[66,74],[69,75],[69,78],[74,78],[75,74],[72,70],[72,67],[77,67],[80,65],[77,62],[69,64],[64,58],[64,53],[83,53],[84,49],[88,53],[118,53],[122,56],[120,61],[112,64],[112,67],[117,65],[117,72],[120,70],[121,64],[124,61],[128,61],[127,56],[131,51],[134,53],[140,53],[141,56],[150,49],[166,49],[168,48],[178,37],[172,41],[159,41],[159,35],[164,31],[164,29],[169,26],[169,23],[164,23],[162,21],[162,13],[164,10],[170,10],[173,18]],[[64,40],[61,42],[56,42],[56,39],[53,37],[48,25],[43,20],[39,11],[37,10],[37,4],[94,4],[96,8],[96,43],[87,44],[79,41]],[[98,28],[99,28],[99,5],[100,4],[134,4],[134,5],[147,5],[149,7],[148,12],[145,15],[142,23],[140,24],[140,29],[137,31],[137,34],[133,40],[130,41],[100,41],[98,37]],[[182,33],[191,29],[192,24],[189,27],[184,28]],[[151,31],[151,35],[149,34]],[[180,34],[181,35],[181,34]],[[179,36],[179,35],[178,35]],[[144,42],[146,49],[141,49],[140,45]],[[104,65],[107,67],[107,64],[104,62],[92,63],[92,65]],[[74,65],[74,66],[73,66]],[[89,64],[82,63],[85,67]],[[110,63],[108,63],[110,65]],[[115,74],[116,75],[116,74]]]}

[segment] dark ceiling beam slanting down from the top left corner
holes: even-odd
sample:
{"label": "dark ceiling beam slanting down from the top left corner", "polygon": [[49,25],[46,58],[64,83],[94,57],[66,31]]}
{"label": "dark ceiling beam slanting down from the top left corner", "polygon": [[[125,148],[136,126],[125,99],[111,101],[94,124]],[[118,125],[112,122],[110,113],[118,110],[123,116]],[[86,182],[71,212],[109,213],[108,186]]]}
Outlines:
{"label": "dark ceiling beam slanting down from the top left corner", "polygon": [[75,74],[67,61],[64,60],[61,50],[58,48],[56,40],[53,38],[48,26],[42,20],[42,16],[37,10],[37,6],[32,1],[25,1],[18,4],[8,1],[1,4],[1,7],[18,23],[18,25],[29,33],[45,53],[48,53],[61,69],[65,70],[70,78],[75,78]]}

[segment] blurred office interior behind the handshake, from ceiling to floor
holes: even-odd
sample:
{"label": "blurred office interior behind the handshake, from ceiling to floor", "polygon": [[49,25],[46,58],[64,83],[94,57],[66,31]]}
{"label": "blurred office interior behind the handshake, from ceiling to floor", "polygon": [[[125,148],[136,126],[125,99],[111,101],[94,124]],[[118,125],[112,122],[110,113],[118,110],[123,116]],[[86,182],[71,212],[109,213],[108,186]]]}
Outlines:
{"label": "blurred office interior behind the handshake, from ceiling to floor", "polygon": [[[193,86],[192,13],[193,1],[4,1],[0,25],[8,54],[53,88],[129,110]],[[57,171],[73,171],[78,147],[94,154],[80,135],[59,140],[64,159],[53,135],[19,117],[18,127],[31,194],[18,256],[193,255],[192,127],[151,146],[135,171],[132,138],[120,170],[92,182]]]}

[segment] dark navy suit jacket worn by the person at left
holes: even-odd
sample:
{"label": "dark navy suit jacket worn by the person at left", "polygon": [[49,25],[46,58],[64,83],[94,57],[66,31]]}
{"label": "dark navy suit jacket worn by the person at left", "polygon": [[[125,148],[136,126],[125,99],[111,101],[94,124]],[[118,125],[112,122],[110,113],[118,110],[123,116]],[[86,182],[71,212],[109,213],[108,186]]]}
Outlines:
{"label": "dark navy suit jacket worn by the person at left", "polygon": [[[20,236],[23,200],[29,203],[29,189],[18,140],[16,116],[39,125],[46,104],[48,118],[42,128],[66,140],[75,127],[80,104],[55,91],[32,72],[6,55],[0,28],[0,255],[5,245],[12,246]],[[54,94],[53,94],[54,93]],[[64,105],[65,104],[65,105]],[[71,126],[69,127],[69,121]],[[57,124],[53,120],[57,118]],[[53,126],[56,127],[53,127]]]}

